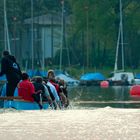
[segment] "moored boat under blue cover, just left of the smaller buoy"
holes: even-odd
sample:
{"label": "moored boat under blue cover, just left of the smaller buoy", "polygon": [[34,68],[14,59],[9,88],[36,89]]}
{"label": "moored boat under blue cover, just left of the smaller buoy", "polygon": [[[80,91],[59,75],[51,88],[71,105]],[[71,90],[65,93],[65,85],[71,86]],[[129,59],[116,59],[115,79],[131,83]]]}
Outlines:
{"label": "moored boat under blue cover, just left of the smaller buoy", "polygon": [[101,81],[104,81],[105,77],[103,74],[96,73],[85,73],[80,77],[80,85],[100,85]]}

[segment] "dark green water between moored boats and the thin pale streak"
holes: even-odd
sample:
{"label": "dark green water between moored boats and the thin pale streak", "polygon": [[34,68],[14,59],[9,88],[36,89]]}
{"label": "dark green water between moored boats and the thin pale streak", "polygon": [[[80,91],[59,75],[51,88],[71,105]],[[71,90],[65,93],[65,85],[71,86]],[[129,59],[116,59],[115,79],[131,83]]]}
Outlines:
{"label": "dark green water between moored boats and the thin pale streak", "polygon": [[114,86],[101,88],[99,86],[76,87],[69,89],[70,98],[74,100],[129,100],[128,86]]}

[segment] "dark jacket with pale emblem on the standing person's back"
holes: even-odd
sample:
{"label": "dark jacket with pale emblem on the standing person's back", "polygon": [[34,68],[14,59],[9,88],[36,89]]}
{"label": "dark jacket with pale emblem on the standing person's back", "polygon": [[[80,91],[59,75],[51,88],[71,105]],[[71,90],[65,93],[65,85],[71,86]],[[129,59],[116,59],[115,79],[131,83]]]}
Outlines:
{"label": "dark jacket with pale emblem on the standing person's back", "polygon": [[16,59],[12,55],[4,56],[1,60],[1,72],[0,76],[6,75],[7,81],[11,83],[17,83],[21,80],[21,70],[16,62]]}

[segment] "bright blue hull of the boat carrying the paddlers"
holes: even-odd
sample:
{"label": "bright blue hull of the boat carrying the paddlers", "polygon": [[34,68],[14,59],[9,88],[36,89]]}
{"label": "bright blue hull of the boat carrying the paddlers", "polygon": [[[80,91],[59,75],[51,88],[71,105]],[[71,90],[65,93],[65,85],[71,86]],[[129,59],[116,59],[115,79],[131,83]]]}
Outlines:
{"label": "bright blue hull of the boat carrying the paddlers", "polygon": [[[20,97],[0,97],[0,108],[14,108],[16,110],[40,110],[36,102],[29,102]],[[49,104],[43,103],[43,109],[48,109]]]}

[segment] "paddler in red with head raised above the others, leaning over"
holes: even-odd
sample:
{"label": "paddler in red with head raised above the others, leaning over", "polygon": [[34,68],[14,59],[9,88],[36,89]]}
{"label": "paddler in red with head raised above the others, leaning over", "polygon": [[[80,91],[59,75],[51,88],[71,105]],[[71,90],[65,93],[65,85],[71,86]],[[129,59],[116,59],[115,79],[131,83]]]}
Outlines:
{"label": "paddler in red with head raised above the others, leaning over", "polygon": [[58,96],[60,97],[61,99],[61,102],[62,102],[62,105],[65,106],[65,104],[67,104],[67,98],[66,96],[64,95],[63,91],[61,90],[59,84],[57,83],[56,79],[55,79],[55,74],[54,74],[54,71],[53,70],[49,70],[48,71],[48,74],[47,74],[47,78],[48,78],[48,81],[54,85],[54,87],[56,88],[56,91],[58,93]]}

